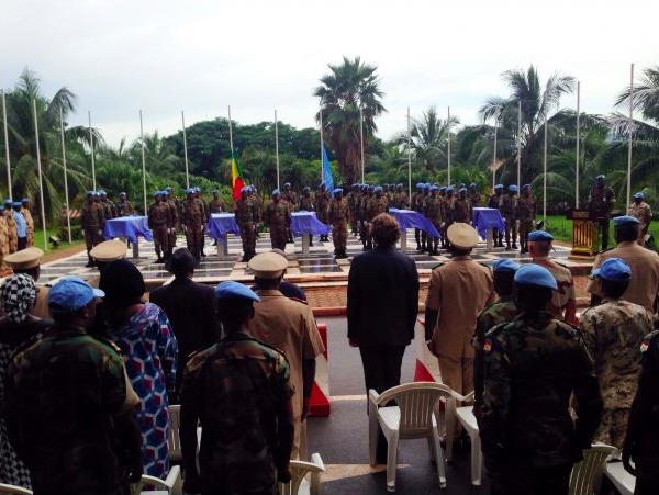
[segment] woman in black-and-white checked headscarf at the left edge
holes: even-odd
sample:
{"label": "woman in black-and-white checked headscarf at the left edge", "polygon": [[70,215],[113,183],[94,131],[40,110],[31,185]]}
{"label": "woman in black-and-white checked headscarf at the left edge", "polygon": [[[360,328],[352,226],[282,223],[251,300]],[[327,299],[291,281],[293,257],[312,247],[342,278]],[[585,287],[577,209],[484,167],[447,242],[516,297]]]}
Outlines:
{"label": "woman in black-and-white checked headscarf at the left edge", "polygon": [[30,315],[36,301],[36,285],[32,277],[18,273],[4,279],[0,286],[0,302],[4,316],[0,318],[0,483],[31,488],[30,471],[12,448],[7,426],[2,420],[4,375],[13,351],[44,331],[49,322]]}

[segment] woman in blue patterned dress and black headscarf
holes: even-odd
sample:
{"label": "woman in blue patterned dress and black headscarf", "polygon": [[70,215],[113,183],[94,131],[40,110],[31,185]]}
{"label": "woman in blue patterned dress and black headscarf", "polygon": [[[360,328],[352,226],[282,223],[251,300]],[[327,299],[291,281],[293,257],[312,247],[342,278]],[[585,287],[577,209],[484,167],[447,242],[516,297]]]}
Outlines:
{"label": "woman in blue patterned dress and black headscarf", "polygon": [[144,279],[132,262],[108,263],[99,288],[105,292],[108,338],[121,348],[129,379],[141,398],[137,419],[144,474],[164,480],[169,472],[168,393],[175,391],[178,352],[174,331],[163,310],[142,301]]}

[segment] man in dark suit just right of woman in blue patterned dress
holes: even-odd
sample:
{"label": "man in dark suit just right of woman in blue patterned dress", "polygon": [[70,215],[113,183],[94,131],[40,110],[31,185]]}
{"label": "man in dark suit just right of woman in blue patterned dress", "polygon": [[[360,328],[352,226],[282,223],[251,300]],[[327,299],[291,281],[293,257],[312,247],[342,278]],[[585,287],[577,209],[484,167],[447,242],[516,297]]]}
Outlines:
{"label": "man in dark suit just right of woman in blue patterned dress", "polygon": [[213,288],[192,280],[194,263],[194,257],[187,248],[174,251],[166,265],[174,281],[155,289],[149,296],[149,301],[160,306],[169,318],[178,341],[177,390],[188,356],[220,338]]}

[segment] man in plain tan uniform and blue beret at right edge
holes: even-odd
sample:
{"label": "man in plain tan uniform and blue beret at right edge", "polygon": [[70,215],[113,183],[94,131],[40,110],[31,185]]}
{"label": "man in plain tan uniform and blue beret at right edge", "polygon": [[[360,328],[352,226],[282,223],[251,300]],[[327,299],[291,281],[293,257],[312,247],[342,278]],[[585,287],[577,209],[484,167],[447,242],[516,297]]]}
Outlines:
{"label": "man in plain tan uniform and blue beret at right edge", "polygon": [[[602,251],[595,258],[593,269],[599,268],[608,258],[622,258],[632,269],[632,280],[623,297],[630,303],[655,313],[655,301],[659,293],[659,255],[638,245],[638,218],[629,215],[613,218],[615,241],[618,245]],[[594,281],[589,280],[585,290],[593,294],[591,305],[601,301],[602,294]]]}

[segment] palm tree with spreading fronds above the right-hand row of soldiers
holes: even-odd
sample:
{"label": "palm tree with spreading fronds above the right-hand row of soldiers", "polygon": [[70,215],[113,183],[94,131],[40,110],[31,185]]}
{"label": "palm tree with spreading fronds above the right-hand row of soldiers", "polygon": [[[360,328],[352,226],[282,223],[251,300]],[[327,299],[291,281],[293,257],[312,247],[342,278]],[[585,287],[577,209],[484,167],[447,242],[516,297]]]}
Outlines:
{"label": "palm tree with spreading fronds above the right-hand row of soldiers", "polygon": [[[572,92],[574,78],[555,72],[543,89],[537,69],[533,66],[526,72],[506,70],[502,78],[511,88],[512,94],[507,98],[490,97],[479,113],[483,123],[489,119],[496,121],[498,139],[501,139],[496,155],[504,160],[504,167],[509,170],[507,182],[530,182],[540,169],[544,121],[558,108],[560,97]],[[522,121],[520,132],[518,113]],[[521,178],[512,173],[512,170],[516,170],[517,139],[521,149]]]}

